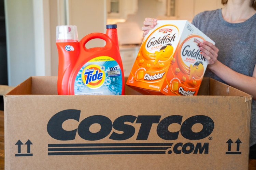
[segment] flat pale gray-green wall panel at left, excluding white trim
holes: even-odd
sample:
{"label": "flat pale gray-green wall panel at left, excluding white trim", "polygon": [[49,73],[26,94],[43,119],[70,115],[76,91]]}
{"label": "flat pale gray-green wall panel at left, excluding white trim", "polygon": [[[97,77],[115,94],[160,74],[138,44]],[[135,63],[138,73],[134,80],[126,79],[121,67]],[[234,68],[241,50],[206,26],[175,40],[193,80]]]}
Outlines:
{"label": "flat pale gray-green wall panel at left, excluding white trim", "polygon": [[8,84],[35,75],[33,0],[4,0]]}

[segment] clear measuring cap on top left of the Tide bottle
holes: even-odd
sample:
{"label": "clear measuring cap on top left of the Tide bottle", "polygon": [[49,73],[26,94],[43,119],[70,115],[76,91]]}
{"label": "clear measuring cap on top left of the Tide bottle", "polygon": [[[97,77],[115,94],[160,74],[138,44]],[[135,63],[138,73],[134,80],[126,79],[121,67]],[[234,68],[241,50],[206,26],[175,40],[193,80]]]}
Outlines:
{"label": "clear measuring cap on top left of the Tide bottle", "polygon": [[78,34],[76,26],[57,26],[56,42],[77,42]]}

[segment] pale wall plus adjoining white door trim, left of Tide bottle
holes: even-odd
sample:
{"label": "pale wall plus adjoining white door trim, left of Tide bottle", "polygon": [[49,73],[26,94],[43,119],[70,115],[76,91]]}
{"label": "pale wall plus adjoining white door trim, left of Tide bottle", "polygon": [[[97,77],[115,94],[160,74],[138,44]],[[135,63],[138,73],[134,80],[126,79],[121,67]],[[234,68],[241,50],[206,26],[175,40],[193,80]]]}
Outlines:
{"label": "pale wall plus adjoining white door trim, left of Tide bottle", "polygon": [[51,75],[49,0],[5,0],[8,84]]}

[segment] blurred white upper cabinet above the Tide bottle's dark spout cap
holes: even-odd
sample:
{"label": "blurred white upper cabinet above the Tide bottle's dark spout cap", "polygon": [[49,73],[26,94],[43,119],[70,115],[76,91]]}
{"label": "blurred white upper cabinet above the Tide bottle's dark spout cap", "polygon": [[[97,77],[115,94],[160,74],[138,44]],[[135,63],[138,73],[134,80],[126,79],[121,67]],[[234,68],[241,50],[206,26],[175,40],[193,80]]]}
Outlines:
{"label": "blurred white upper cabinet above the Tide bottle's dark spout cap", "polygon": [[107,0],[107,15],[111,19],[126,19],[138,10],[138,0]]}

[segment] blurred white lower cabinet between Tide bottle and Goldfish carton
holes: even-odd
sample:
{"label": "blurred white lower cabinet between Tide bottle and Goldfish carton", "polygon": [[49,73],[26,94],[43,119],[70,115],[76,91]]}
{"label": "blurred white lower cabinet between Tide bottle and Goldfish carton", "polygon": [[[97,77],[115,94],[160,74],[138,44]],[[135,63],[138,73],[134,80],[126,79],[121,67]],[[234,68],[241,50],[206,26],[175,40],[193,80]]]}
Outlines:
{"label": "blurred white lower cabinet between Tide bottle and Goldfish carton", "polygon": [[128,77],[140,47],[120,47],[125,77]]}

